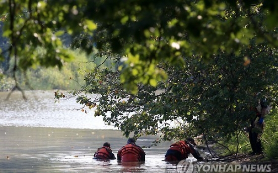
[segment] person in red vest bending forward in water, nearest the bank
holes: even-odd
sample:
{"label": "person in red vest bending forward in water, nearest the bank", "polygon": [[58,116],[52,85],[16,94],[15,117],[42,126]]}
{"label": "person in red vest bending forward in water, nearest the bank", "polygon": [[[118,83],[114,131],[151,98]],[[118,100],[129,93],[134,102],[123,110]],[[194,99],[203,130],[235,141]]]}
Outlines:
{"label": "person in red vest bending forward in water, nearest the bank", "polygon": [[197,160],[203,160],[198,150],[194,147],[196,145],[193,138],[181,140],[170,145],[166,151],[165,161],[180,161],[186,159],[191,153]]}

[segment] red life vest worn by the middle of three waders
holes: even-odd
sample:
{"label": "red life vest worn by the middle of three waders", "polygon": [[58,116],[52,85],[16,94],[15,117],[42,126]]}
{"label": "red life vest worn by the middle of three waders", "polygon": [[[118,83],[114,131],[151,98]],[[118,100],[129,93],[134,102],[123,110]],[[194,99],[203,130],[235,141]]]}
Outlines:
{"label": "red life vest worn by the middle of three waders", "polygon": [[141,161],[141,154],[143,152],[144,150],[142,148],[136,146],[134,143],[129,143],[118,151],[118,155],[121,157],[121,161]]}

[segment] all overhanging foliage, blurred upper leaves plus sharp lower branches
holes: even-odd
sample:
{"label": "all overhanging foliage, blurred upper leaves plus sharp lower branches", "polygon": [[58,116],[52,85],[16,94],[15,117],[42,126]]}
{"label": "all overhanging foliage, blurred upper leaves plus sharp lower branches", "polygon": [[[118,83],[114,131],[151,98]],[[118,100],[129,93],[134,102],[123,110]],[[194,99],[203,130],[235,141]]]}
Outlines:
{"label": "all overhanging foliage, blurred upper leaves plus sharp lower branches", "polygon": [[95,115],[108,124],[126,135],[163,132],[165,140],[229,138],[250,119],[258,92],[277,100],[277,6],[257,0],[2,1],[10,44],[2,55],[14,58],[14,71],[61,68],[78,58],[64,46],[69,37],[71,48],[115,62],[85,76],[83,91],[101,96],[77,99],[89,108],[97,104]]}

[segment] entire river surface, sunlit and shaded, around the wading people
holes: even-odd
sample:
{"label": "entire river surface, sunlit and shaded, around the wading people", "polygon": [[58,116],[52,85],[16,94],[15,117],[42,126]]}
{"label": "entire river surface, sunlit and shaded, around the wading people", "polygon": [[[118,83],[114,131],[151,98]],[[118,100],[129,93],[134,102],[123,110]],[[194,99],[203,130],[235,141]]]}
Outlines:
{"label": "entire river surface, sunlit and shaded, around the wading people", "polygon": [[[104,142],[113,152],[126,138],[105,125],[93,111],[84,113],[75,98],[54,102],[54,91],[0,92],[0,172],[177,172],[175,164],[163,161],[171,142],[145,148],[144,163],[100,161],[93,154]],[[158,136],[141,137],[140,146],[150,146]]]}

